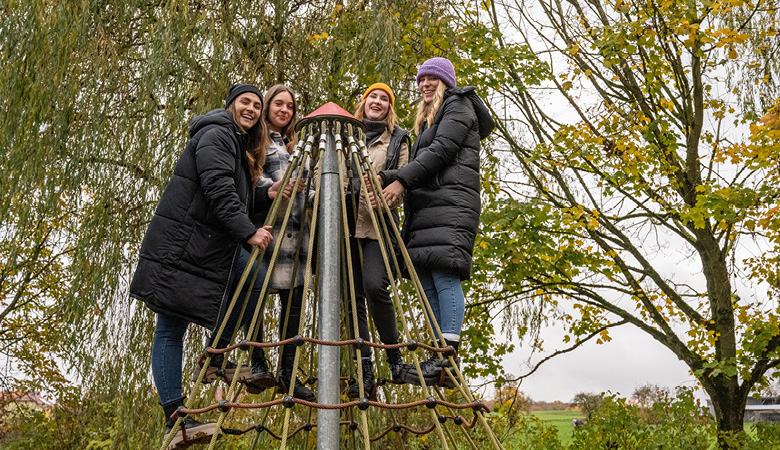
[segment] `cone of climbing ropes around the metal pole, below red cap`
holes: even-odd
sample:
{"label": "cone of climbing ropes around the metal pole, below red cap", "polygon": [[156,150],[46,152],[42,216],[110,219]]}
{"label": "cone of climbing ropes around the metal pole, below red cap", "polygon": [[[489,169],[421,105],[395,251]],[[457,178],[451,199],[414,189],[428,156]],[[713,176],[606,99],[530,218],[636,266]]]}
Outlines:
{"label": "cone of climbing ropes around the metal pole, below red cap", "polygon": [[[185,406],[180,407],[174,416],[178,417],[174,428],[166,435],[160,446],[161,450],[169,447],[171,441],[182,431],[182,419],[187,416],[193,416],[199,421],[214,420],[214,414],[217,413],[217,433],[215,433],[208,445],[209,449],[216,448],[217,442],[223,436],[242,436],[255,431],[252,437],[250,448],[262,448],[262,446],[271,446],[272,448],[286,449],[290,448],[313,448],[314,440],[310,438],[310,431],[318,429],[317,412],[326,410],[337,410],[341,420],[338,426],[341,429],[339,433],[339,448],[372,448],[372,444],[382,440],[390,439],[393,435],[398,435],[401,439],[403,433],[410,433],[414,436],[425,436],[434,433],[438,437],[437,448],[455,449],[457,443],[467,443],[471,448],[477,449],[470,430],[478,424],[488,436],[493,448],[503,449],[503,446],[496,438],[484,414],[489,412],[489,408],[479,399],[475,398],[466,380],[459,368],[459,362],[452,347],[442,347],[439,342],[445,342],[439,325],[432,314],[431,305],[425,296],[425,293],[417,277],[414,267],[409,259],[409,254],[403,245],[400,231],[396,222],[388,218],[392,217],[391,210],[393,206],[388,205],[382,195],[377,195],[377,209],[368,208],[371,224],[377,236],[379,248],[382,254],[382,260],[389,279],[390,295],[395,307],[399,331],[402,342],[395,344],[382,344],[377,338],[376,330],[371,329],[371,340],[366,341],[361,338],[344,338],[349,336],[359,336],[358,317],[357,317],[357,290],[355,280],[353,279],[353,265],[362,265],[362,249],[357,246],[358,260],[353,261],[351,255],[353,249],[350,242],[347,222],[348,213],[357,216],[358,201],[369,198],[370,192],[381,193],[382,186],[374,165],[368,154],[365,144],[365,132],[361,122],[351,116],[341,115],[320,115],[316,117],[307,117],[296,127],[298,130],[298,143],[292,155],[290,155],[289,165],[282,178],[281,186],[286,186],[293,178],[296,179],[293,189],[293,196],[285,200],[281,195],[276,197],[265,220],[265,225],[277,223],[281,218],[281,230],[274,236],[272,246],[265,250],[257,247],[253,249],[250,255],[249,263],[240,276],[238,286],[230,300],[227,312],[224,314],[224,320],[220,323],[211,342],[219,342],[224,335],[230,337],[230,345],[224,348],[207,347],[200,356],[200,370],[193,375],[193,385],[191,395],[187,398]],[[410,149],[411,150],[411,149]],[[339,251],[341,254],[341,298],[340,307],[342,311],[340,335],[342,340],[323,340],[315,338],[319,336],[319,323],[316,320],[318,308],[323,308],[321,298],[318,292],[318,283],[315,283],[318,276],[318,267],[322,264],[332,264],[329,261],[316,261],[317,255],[314,252],[314,246],[317,243],[318,217],[321,208],[322,187],[322,161],[321,157],[326,151],[335,151],[339,157],[338,176],[343,186],[338,191],[340,198],[340,236]],[[298,176],[305,173],[313,176]],[[356,173],[355,173],[356,172]],[[360,181],[359,189],[353,186],[352,179]],[[348,182],[344,183],[347,180]],[[297,233],[296,253],[293,262],[293,271],[290,280],[288,292],[292,296],[293,289],[296,288],[296,276],[298,273],[298,264],[305,264],[303,277],[303,304],[299,314],[298,334],[289,339],[280,339],[279,341],[263,342],[257,337],[261,331],[266,331],[263,335],[268,336],[270,326],[279,323],[281,320],[281,336],[287,335],[287,329],[293,324],[290,323],[290,308],[292,298],[288,298],[286,308],[281,311],[274,307],[268,307],[273,304],[273,290],[270,287],[270,280],[274,269],[279,263],[280,251],[286,236],[287,230],[291,227],[291,220],[294,214],[295,192],[301,190],[304,192],[303,199],[305,207],[302,209],[303,217],[296,217],[295,223],[299,224],[300,230],[309,232]],[[346,201],[349,198],[351,201]],[[348,211],[347,205],[351,205],[353,210]],[[299,230],[299,231],[300,231]],[[308,239],[304,239],[304,238]],[[397,245],[393,246],[391,243]],[[320,243],[322,245],[322,243]],[[305,261],[299,261],[301,251],[308,249]],[[268,259],[268,266],[265,279],[262,282],[260,292],[261,301],[257,302],[253,310],[247,309],[248,300],[251,295],[251,289],[247,289],[246,295],[241,295],[243,286],[246,283],[254,285],[260,273],[260,264],[254,264],[256,261],[262,261],[266,251],[271,252]],[[320,266],[317,265],[317,262]],[[255,267],[257,266],[257,267]],[[400,284],[403,282],[402,267],[407,270],[406,292],[402,292]],[[298,280],[300,282],[300,280]],[[328,307],[333,307],[329,305]],[[338,308],[339,305],[337,304]],[[251,315],[249,326],[244,330],[244,336],[238,339],[239,327],[236,330],[227,330],[228,318],[231,313],[239,308],[239,320],[237,323],[244,323],[244,318]],[[266,311],[268,309],[268,311]],[[347,311],[351,314],[351,321],[346,320]],[[350,324],[351,322],[351,324]],[[349,329],[351,325],[351,330]],[[428,344],[432,343],[433,345]],[[293,345],[295,348],[295,358],[292,367],[292,377],[284,386],[262,390],[260,394],[249,395],[245,392],[245,384],[240,382],[239,376],[233,376],[239,372],[242,366],[252,361],[252,353],[259,349],[283,349],[284,346]],[[317,362],[318,349],[325,347],[339,347],[340,351],[340,371],[341,374],[355,374],[353,377],[340,377],[340,389],[342,392],[341,401],[337,404],[318,403],[303,400],[294,397],[294,386],[296,375],[303,376],[303,384],[312,387],[316,392],[318,382]],[[364,391],[363,383],[363,361],[367,349],[391,350],[399,349],[402,351],[405,362],[411,362],[416,368],[419,377],[419,386],[410,384],[398,384],[387,378],[379,377],[376,380],[372,392]],[[420,367],[420,352],[432,352],[442,359],[440,364],[443,367],[441,377],[435,386],[426,383],[422,377]],[[378,353],[378,352],[377,352]],[[225,355],[222,358],[221,367],[216,370],[217,382],[210,383],[206,379],[206,373],[210,367],[211,360],[216,355]],[[389,367],[383,358],[374,358],[375,373],[389,374]],[[423,357],[423,359],[427,356]],[[228,361],[235,361],[236,369],[231,374],[227,366]],[[281,368],[281,358],[277,358],[276,373]],[[359,398],[349,401],[344,395],[344,391],[351,384],[357,383]],[[210,386],[208,389],[207,387]],[[446,391],[442,387],[447,387]],[[410,400],[411,401],[405,401]],[[195,407],[197,403],[200,407]],[[456,413],[456,411],[459,411]],[[462,412],[462,413],[461,413]],[[464,417],[461,414],[465,414]],[[427,417],[427,419],[426,419]],[[470,418],[467,418],[470,417]],[[321,427],[321,426],[320,426]],[[458,431],[459,430],[459,431]],[[453,431],[458,434],[454,435]],[[295,440],[295,443],[293,443]],[[399,441],[402,442],[402,441]]]}

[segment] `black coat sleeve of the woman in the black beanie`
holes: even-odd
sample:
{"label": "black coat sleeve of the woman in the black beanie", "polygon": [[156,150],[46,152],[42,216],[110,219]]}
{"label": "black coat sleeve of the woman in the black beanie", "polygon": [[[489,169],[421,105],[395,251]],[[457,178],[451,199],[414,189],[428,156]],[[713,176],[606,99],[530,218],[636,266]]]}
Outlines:
{"label": "black coat sleeve of the woman in the black beanie", "polygon": [[[237,151],[224,128],[207,132],[195,149],[200,185],[211,210],[224,230],[237,241],[246,241],[257,228],[252,224],[236,187]],[[239,169],[240,170],[240,169]]]}

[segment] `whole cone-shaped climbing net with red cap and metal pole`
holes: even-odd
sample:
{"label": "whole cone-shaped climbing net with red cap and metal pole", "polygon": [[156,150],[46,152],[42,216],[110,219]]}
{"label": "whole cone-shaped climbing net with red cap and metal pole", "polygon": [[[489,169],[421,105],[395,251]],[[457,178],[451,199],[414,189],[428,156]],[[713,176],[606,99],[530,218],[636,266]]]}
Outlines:
{"label": "whole cone-shaped climbing net with red cap and metal pole", "polygon": [[[272,225],[278,217],[283,217],[281,231],[274,236],[274,241],[266,250],[255,247],[251,253],[249,264],[241,274],[238,287],[228,306],[225,319],[220,324],[213,342],[230,332],[231,345],[225,348],[207,347],[201,356],[201,369],[194,377],[192,395],[187,399],[186,405],[180,407],[175,413],[178,417],[174,428],[166,435],[160,447],[168,448],[170,442],[178,433],[186,433],[182,429],[182,418],[192,415],[199,420],[201,415],[217,411],[218,433],[215,433],[208,448],[216,448],[221,437],[229,435],[244,435],[254,432],[251,448],[257,445],[271,446],[274,448],[312,448],[313,440],[305,437],[303,442],[293,442],[296,436],[303,432],[316,429],[317,446],[319,449],[339,448],[372,448],[372,445],[386,438],[390,433],[409,433],[411,435],[425,436],[435,433],[439,442],[434,444],[436,448],[455,449],[458,443],[468,443],[471,448],[477,449],[473,437],[470,435],[477,425],[481,426],[484,435],[487,436],[493,447],[503,449],[501,443],[490,429],[485,419],[485,413],[489,408],[479,399],[475,398],[465,382],[456,360],[452,347],[441,347],[437,342],[444,342],[442,332],[432,314],[431,305],[425,296],[420,280],[414,271],[409,259],[409,254],[403,245],[398,226],[391,217],[391,206],[387,204],[382,195],[377,195],[377,210],[368,208],[371,222],[376,232],[377,241],[382,253],[385,269],[389,278],[391,297],[401,325],[401,341],[397,344],[384,345],[376,342],[364,341],[360,338],[342,339],[346,325],[350,321],[342,321],[341,310],[350,311],[352,314],[351,336],[359,336],[357,330],[356,289],[353,279],[353,264],[360,261],[352,261],[352,245],[349,239],[347,223],[347,207],[358,207],[358,201],[362,192],[363,198],[369,197],[369,192],[381,192],[382,186],[374,170],[366,148],[365,128],[359,120],[333,103],[328,103],[301,120],[296,126],[298,143],[295,151],[290,156],[290,164],[282,178],[282,186],[295,178],[296,186],[293,192],[298,192],[303,186],[303,192],[307,193],[307,208],[311,214],[304,213],[305,217],[298,218],[302,227],[313,230],[311,233],[299,233],[297,242],[297,254],[306,255],[304,268],[303,292],[305,311],[311,314],[300,314],[298,330],[310,336],[297,335],[290,339],[278,342],[260,342],[256,339],[258,329],[262,327],[263,314],[269,296],[269,280],[277,266],[279,253],[283,240],[287,233],[291,215],[293,214],[292,197],[284,201],[282,195],[274,200],[266,218],[265,224]],[[308,169],[313,176],[297,176]],[[357,173],[354,173],[357,171]],[[352,183],[348,189],[344,189],[343,180],[360,180],[359,191]],[[311,195],[309,195],[311,193]],[[351,202],[346,199],[351,196]],[[356,215],[356,210],[353,213]],[[281,216],[280,216],[281,214]],[[316,232],[314,232],[316,231]],[[308,237],[304,242],[303,237]],[[392,245],[391,242],[397,243]],[[318,245],[316,253],[314,246]],[[308,252],[301,253],[304,248]],[[273,248],[272,248],[273,247]],[[362,252],[358,246],[357,254],[362,259]],[[246,283],[254,285],[260,270],[253,267],[255,261],[262,259],[265,251],[271,251],[270,263],[267,275],[263,282],[260,298],[254,311],[247,310],[246,305],[251,290],[242,295],[242,287]],[[293,274],[297,273],[298,260],[295,258]],[[402,278],[402,268],[405,268],[407,277],[411,279],[411,288],[407,291],[412,294],[403,294],[399,289]],[[295,276],[291,280],[294,283]],[[290,317],[291,301],[287,301],[286,311],[282,311],[283,329],[286,330]],[[351,307],[350,307],[351,306]],[[237,340],[237,330],[226,330],[227,318],[234,309],[240,308],[240,316],[251,314],[250,330],[242,339]],[[314,320],[314,318],[317,320]],[[269,317],[270,318],[270,317]],[[241,323],[239,319],[239,323]],[[308,326],[307,326],[308,324]],[[253,330],[253,331],[252,331]],[[282,336],[286,331],[282,332]],[[318,338],[312,336],[318,335]],[[376,340],[376,339],[372,339]],[[432,342],[434,345],[424,344],[418,340]],[[280,348],[284,345],[295,346],[295,359],[293,363],[292,380],[287,383],[287,391],[281,391],[280,387],[268,389],[258,396],[248,396],[243,392],[244,385],[239,382],[238,376],[226,376],[226,364],[228,357],[236,360],[238,366],[251,360],[251,354],[256,349]],[[352,352],[341,352],[342,348]],[[419,375],[419,386],[397,385],[385,378],[378,378],[375,390],[383,390],[384,401],[379,401],[376,392],[365,392],[363,384],[363,353],[369,348],[376,349],[400,349],[404,359],[411,360]],[[422,377],[420,368],[420,355],[418,350],[427,350],[437,354],[443,367],[441,379],[435,385],[429,385]],[[350,353],[356,356],[354,359]],[[343,355],[342,353],[346,354]],[[221,369],[217,370],[217,376],[225,381],[221,389],[222,400],[216,401],[216,387],[206,398],[213,401],[200,408],[194,407],[196,399],[202,399],[201,389],[204,389],[204,378],[209,369],[211,359],[215,355],[225,355]],[[379,358],[376,358],[379,360]],[[355,361],[355,362],[352,362]],[[308,369],[304,371],[303,365],[308,363]],[[357,367],[349,367],[355,365]],[[344,373],[356,373],[357,380],[342,376],[342,366],[347,366]],[[313,376],[316,372],[317,376]],[[295,374],[306,373],[305,384],[316,383],[317,401],[310,402],[293,397]],[[345,381],[357,383],[359,399],[342,401],[340,392]],[[215,383],[216,385],[218,383]],[[224,387],[227,386],[227,387]],[[451,388],[445,391],[443,388]],[[400,402],[398,392],[403,389],[404,398],[412,401]],[[376,400],[374,400],[376,399]],[[396,414],[401,410],[419,410],[419,420],[416,426],[402,423]],[[253,412],[252,415],[244,413]],[[382,412],[382,414],[379,414]],[[213,414],[213,413],[212,413]],[[373,415],[372,420],[369,420]],[[381,416],[381,417],[377,417]],[[429,417],[429,419],[425,419]],[[428,423],[426,427],[420,427],[419,423]],[[369,424],[372,426],[369,426]],[[373,428],[373,429],[372,429]],[[453,433],[453,430],[460,430]],[[184,436],[186,440],[186,436]],[[271,444],[270,442],[276,444]],[[264,442],[261,444],[261,441]],[[276,447],[278,445],[278,447]]]}

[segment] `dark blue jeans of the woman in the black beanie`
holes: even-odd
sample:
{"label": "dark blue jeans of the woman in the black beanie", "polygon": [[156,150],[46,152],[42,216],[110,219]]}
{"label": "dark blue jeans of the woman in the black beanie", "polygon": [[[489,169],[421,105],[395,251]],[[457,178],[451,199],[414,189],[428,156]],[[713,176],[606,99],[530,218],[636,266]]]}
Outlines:
{"label": "dark blue jeans of the woman in the black beanie", "polygon": [[[233,281],[231,295],[235,292],[241,273],[249,262],[249,257],[250,253],[242,248],[238,255],[238,265],[236,266],[238,272]],[[257,263],[255,263],[255,267],[257,267]],[[251,272],[249,276],[252,276]],[[244,312],[244,317],[241,321],[242,325],[249,325],[252,321],[252,315],[254,314],[257,301],[260,298],[260,290],[263,288],[264,279],[265,271],[261,268],[260,273],[257,275],[257,279],[255,279],[254,285],[251,287],[252,294],[249,296],[246,311]],[[226,343],[229,343],[230,334],[236,328],[238,316],[241,313],[240,302],[242,302],[244,296],[246,296],[250,280],[251,278],[247,279],[244,289],[242,289],[241,296],[238,298],[238,301],[230,314],[228,324],[223,332],[225,337],[220,339],[220,343],[225,343],[222,347],[227,346]],[[182,348],[184,334],[187,332],[187,326],[189,324],[189,321],[185,319],[162,313],[157,314],[157,328],[154,331],[154,343],[152,344],[152,376],[154,377],[154,385],[157,386],[157,394],[160,397],[160,404],[162,406],[170,405],[184,398],[181,390]],[[257,337],[258,341],[262,340],[262,329],[262,324],[260,324],[259,336]]]}

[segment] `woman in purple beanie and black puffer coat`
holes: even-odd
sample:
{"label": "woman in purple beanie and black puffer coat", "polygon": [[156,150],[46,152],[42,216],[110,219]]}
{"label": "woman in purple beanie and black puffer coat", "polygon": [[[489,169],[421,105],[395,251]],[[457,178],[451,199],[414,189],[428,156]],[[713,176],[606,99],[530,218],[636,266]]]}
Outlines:
{"label": "woman in purple beanie and black puffer coat", "polygon": [[[384,196],[406,193],[401,235],[445,342],[457,353],[465,313],[461,281],[471,276],[479,227],[479,148],[495,124],[474,87],[458,87],[446,58],[431,58],[417,71],[422,101],[417,108],[409,163],[380,172]],[[434,354],[420,364],[426,384],[452,387]],[[406,371],[420,384],[417,370]]]}

